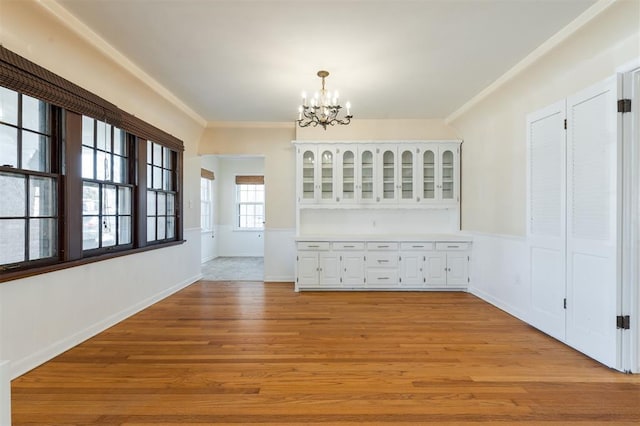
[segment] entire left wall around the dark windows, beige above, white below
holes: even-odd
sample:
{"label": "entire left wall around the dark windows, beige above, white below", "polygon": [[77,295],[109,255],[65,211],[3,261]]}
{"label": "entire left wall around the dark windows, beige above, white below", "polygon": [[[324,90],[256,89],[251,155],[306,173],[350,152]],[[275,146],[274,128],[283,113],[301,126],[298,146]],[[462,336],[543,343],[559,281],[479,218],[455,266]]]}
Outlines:
{"label": "entire left wall around the dark windows, beige above, white below", "polygon": [[[0,360],[15,378],[200,278],[204,123],[54,17],[43,3],[0,0],[0,44],[182,139],[186,242],[0,283]],[[0,386],[3,386],[0,377]],[[0,394],[3,413],[4,395]],[[0,418],[0,421],[2,419]]]}

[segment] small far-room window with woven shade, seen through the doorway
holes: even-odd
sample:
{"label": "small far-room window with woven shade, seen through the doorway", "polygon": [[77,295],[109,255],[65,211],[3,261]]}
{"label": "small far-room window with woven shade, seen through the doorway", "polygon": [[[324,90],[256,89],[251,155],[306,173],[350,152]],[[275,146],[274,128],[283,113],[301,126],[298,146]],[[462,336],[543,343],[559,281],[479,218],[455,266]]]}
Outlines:
{"label": "small far-room window with woven shade, seen through the doorway", "polygon": [[264,176],[236,176],[236,229],[264,229]]}

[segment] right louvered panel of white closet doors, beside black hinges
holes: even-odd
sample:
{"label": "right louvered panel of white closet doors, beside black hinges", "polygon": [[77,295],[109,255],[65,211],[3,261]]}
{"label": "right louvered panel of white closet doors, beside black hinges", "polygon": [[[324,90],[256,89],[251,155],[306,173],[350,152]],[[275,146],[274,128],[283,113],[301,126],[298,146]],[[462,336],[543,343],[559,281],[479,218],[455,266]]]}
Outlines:
{"label": "right louvered panel of white closet doors, beside black hinges", "polygon": [[567,99],[567,343],[616,365],[620,149],[611,78]]}

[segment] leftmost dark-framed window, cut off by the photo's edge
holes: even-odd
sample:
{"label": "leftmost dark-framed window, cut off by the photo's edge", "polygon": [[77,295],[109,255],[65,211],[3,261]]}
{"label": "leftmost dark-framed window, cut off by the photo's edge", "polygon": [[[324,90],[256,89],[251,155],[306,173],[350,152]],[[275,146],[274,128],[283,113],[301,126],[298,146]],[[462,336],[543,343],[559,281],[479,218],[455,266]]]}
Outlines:
{"label": "leftmost dark-framed window, cut off by the photo's edge", "polygon": [[58,255],[52,107],[0,87],[0,266]]}

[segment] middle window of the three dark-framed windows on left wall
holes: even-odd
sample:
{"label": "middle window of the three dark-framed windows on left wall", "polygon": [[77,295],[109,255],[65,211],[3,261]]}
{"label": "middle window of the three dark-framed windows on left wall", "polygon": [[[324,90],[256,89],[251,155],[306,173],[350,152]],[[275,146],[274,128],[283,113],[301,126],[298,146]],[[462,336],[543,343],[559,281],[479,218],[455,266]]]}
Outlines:
{"label": "middle window of the three dark-framed windows on left wall", "polygon": [[128,141],[117,127],[82,117],[82,248],[129,246],[133,186]]}

